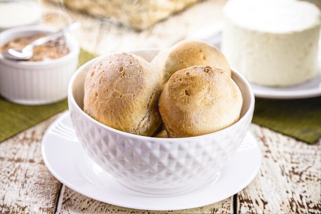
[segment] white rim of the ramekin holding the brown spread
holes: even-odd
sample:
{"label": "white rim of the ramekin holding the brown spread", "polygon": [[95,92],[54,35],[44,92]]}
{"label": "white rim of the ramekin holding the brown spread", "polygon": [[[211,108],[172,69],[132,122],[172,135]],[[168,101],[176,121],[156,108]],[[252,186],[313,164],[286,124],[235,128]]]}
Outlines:
{"label": "white rim of the ramekin holding the brown spread", "polygon": [[[21,27],[14,27],[14,28],[10,28],[8,30],[2,31],[0,32],[0,36],[1,35],[10,35],[12,33],[16,33],[16,32],[30,32],[30,31],[43,31],[43,32],[54,32],[55,29],[52,27],[48,27],[48,26],[41,26],[41,25],[30,25],[30,26],[21,26]],[[72,57],[73,54],[78,53],[79,52],[79,44],[76,42],[75,38],[73,36],[71,36],[70,34],[66,34],[66,38],[67,38],[67,46],[69,45],[69,53],[67,53],[66,55],[59,57],[57,59],[54,60],[47,60],[47,61],[15,61],[15,60],[8,60],[6,59],[1,53],[0,53],[0,61],[3,61],[9,65],[13,65],[13,66],[17,66],[17,65],[21,65],[21,66],[43,66],[43,65],[55,65],[57,63],[61,63],[64,61],[68,61],[70,59],[70,57]]]}

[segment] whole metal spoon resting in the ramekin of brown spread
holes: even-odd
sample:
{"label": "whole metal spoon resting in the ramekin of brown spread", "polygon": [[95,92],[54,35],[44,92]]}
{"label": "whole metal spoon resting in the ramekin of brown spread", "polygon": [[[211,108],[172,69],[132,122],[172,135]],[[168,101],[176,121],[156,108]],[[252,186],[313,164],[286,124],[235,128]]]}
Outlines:
{"label": "whole metal spoon resting in the ramekin of brown spread", "polygon": [[21,50],[10,48],[7,51],[4,51],[2,55],[9,60],[29,60],[33,56],[33,48],[35,48],[36,46],[45,44],[49,41],[56,40],[57,38],[63,37],[65,32],[69,31],[72,28],[78,27],[79,25],[80,23],[73,22],[56,33],[47,35],[42,38],[38,38],[37,40],[33,41],[32,43],[30,43],[29,45],[27,45]]}

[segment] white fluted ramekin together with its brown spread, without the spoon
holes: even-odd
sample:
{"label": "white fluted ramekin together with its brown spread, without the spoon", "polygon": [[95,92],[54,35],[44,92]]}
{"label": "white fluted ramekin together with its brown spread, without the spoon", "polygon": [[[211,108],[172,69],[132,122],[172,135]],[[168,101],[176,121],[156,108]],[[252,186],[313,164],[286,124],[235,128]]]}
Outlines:
{"label": "white fluted ramekin together with its brown spread, without the spoon", "polygon": [[[44,26],[12,28],[0,33],[0,52],[21,49],[37,37],[54,32]],[[63,100],[77,68],[79,45],[66,34],[63,39],[34,49],[28,61],[5,59],[0,53],[0,95],[19,104],[42,105]]]}

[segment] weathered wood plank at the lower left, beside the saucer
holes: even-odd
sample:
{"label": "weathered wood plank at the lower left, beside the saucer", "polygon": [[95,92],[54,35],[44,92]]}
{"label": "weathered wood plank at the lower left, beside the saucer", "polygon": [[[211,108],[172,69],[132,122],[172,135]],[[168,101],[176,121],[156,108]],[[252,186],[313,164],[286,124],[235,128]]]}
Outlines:
{"label": "weathered wood plank at the lower left, beside the saucer", "polygon": [[46,168],[42,136],[56,116],[0,143],[0,213],[53,213],[62,184]]}

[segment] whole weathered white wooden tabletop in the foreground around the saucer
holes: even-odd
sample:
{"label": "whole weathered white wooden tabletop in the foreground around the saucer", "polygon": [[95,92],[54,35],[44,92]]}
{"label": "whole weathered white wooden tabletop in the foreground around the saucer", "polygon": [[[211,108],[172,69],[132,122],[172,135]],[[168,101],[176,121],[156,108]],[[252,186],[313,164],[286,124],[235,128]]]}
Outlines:
{"label": "whole weathered white wooden tabletop in the foreground around the saucer", "polygon": [[[1,213],[233,212],[233,197],[195,209],[147,211],[105,204],[61,188],[40,151],[42,135],[54,118],[0,144]],[[307,145],[254,124],[251,131],[264,158],[254,181],[237,194],[237,213],[320,213],[320,142]]]}

